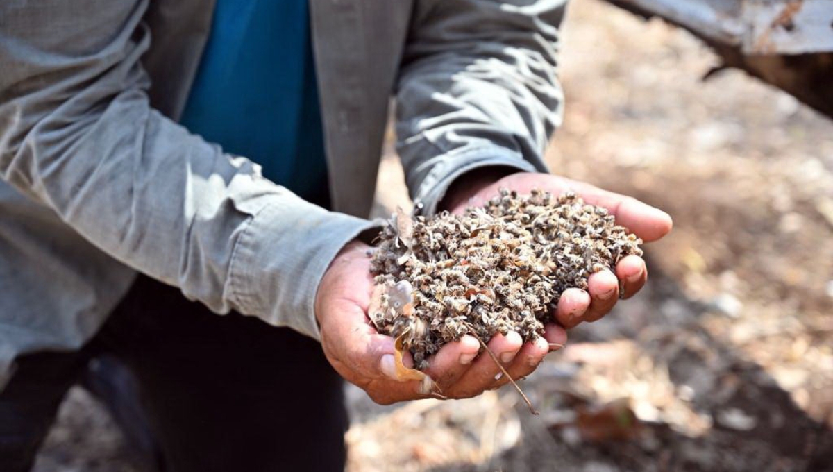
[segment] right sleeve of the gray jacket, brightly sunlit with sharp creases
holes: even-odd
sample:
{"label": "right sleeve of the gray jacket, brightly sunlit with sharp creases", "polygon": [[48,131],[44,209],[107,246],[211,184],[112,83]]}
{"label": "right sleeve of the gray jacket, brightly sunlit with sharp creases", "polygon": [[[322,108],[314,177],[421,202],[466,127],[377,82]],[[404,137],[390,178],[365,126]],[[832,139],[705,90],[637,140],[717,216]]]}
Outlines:
{"label": "right sleeve of the gray jacket, brightly sunlit with sharp creases", "polygon": [[416,2],[397,84],[397,151],[427,212],[467,171],[546,171],[561,124],[564,0]]}

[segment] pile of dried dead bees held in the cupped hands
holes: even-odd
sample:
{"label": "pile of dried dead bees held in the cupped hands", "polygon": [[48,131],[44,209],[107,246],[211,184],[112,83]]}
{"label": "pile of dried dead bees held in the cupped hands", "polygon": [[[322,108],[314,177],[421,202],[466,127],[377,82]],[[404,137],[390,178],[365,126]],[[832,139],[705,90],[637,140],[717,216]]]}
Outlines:
{"label": "pile of dried dead bees held in the cupped hands", "polygon": [[369,313],[379,332],[402,339],[416,369],[466,333],[488,341],[543,333],[561,292],[586,289],[596,271],[641,256],[641,240],[599,206],[566,193],[501,191],[465,215],[398,211],[372,256],[377,290]]}

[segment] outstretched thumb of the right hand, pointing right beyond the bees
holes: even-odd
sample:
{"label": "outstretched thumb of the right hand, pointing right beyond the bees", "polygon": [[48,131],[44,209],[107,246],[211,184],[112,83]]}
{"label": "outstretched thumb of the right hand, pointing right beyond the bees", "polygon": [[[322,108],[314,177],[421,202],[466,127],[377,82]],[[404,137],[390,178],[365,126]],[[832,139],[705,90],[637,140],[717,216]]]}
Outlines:
{"label": "outstretched thumb of the right hand, pointing right beyond the bees", "polygon": [[[655,206],[642,203],[631,196],[601,190],[584,182],[569,179],[564,181],[564,185],[575,191],[587,203],[604,206],[611,215],[616,216],[616,224],[625,226],[641,237],[642,241],[656,241],[671,231],[671,216]],[[561,188],[561,191],[564,190],[566,189]]]}

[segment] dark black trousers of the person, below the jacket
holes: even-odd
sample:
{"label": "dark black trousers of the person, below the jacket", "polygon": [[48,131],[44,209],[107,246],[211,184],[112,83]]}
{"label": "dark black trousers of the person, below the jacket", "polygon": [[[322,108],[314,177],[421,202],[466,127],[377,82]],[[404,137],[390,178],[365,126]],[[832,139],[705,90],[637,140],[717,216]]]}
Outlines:
{"label": "dark black trousers of the person, below the jacket", "polygon": [[342,380],[315,340],[140,276],[82,350],[18,360],[0,393],[0,471],[31,468],[63,395],[102,354],[137,380],[166,472],[344,468]]}

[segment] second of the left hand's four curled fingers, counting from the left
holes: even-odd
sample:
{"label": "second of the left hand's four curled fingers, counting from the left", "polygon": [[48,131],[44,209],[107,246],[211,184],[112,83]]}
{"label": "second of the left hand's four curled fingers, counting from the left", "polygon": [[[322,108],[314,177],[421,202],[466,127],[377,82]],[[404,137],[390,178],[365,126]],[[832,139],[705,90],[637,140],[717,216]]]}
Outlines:
{"label": "second of the left hand's four curled fingers, counting from the left", "polygon": [[[521,335],[513,331],[509,331],[506,335],[495,335],[488,343],[489,350],[503,365],[511,365],[518,350],[521,350],[521,345],[523,345]],[[495,380],[500,379],[498,374],[502,374],[502,370],[495,364],[495,360],[488,353],[482,353],[477,356],[460,380],[449,387],[449,395],[455,398],[480,395],[484,390],[491,388]]]}

